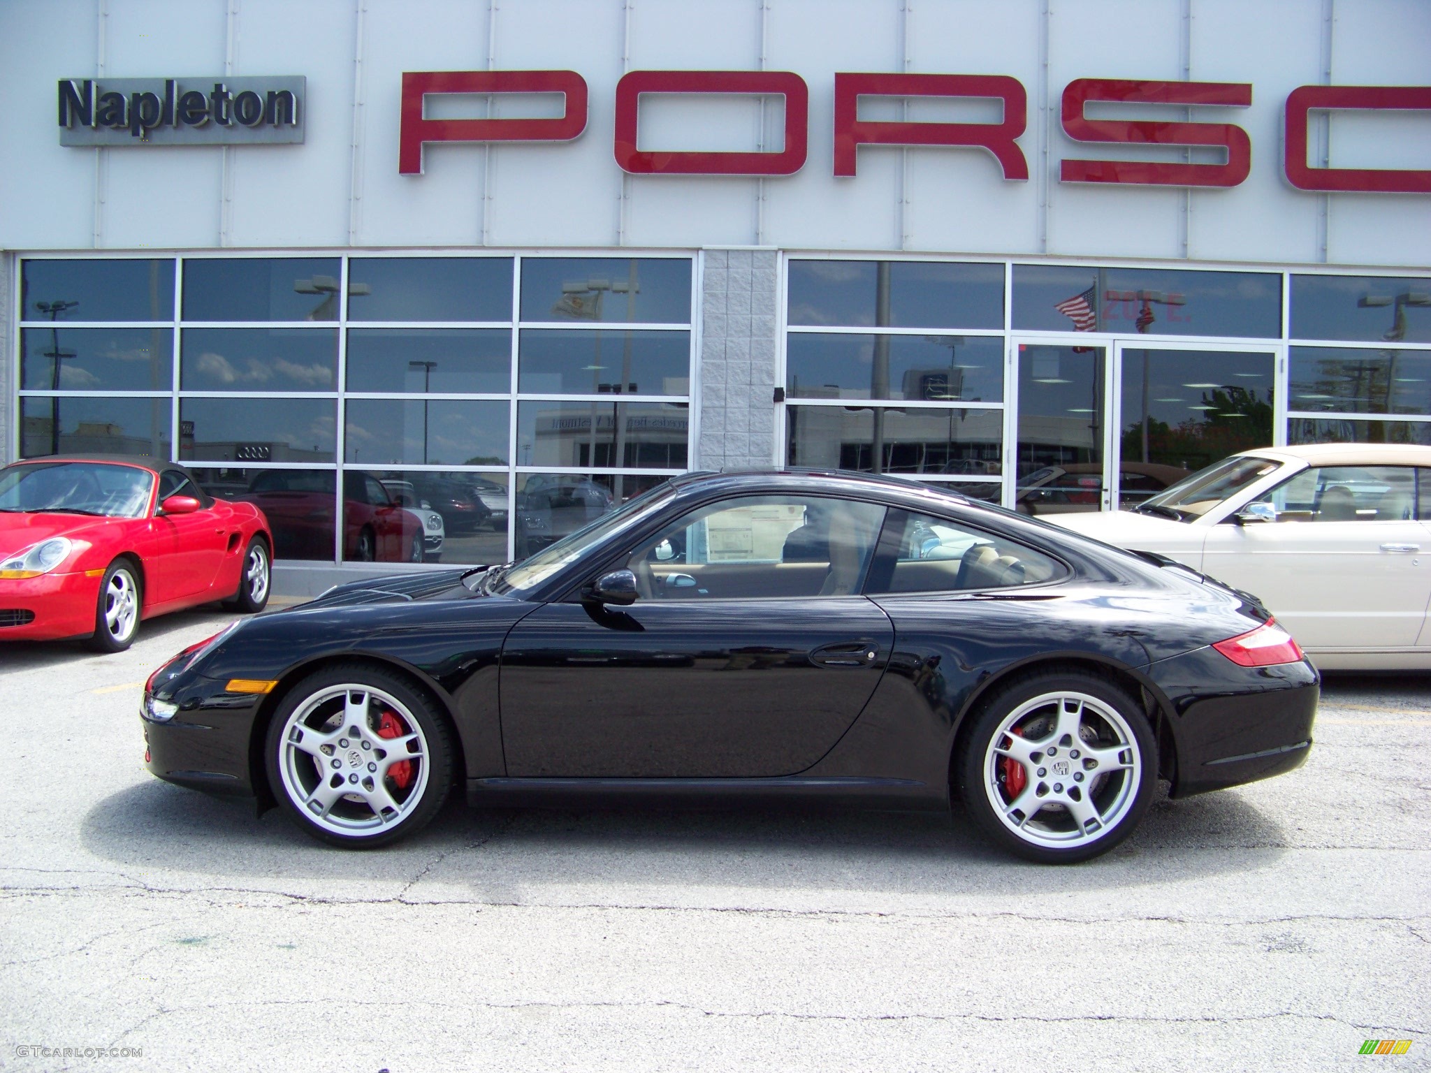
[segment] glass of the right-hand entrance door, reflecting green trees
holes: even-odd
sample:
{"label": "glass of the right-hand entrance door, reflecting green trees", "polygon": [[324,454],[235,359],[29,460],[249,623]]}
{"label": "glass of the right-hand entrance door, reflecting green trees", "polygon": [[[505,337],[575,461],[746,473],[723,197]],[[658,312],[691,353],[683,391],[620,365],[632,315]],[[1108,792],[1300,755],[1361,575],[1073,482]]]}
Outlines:
{"label": "glass of the right-hand entrance door, reflecting green trees", "polygon": [[1272,444],[1272,353],[1123,351],[1119,502]]}

